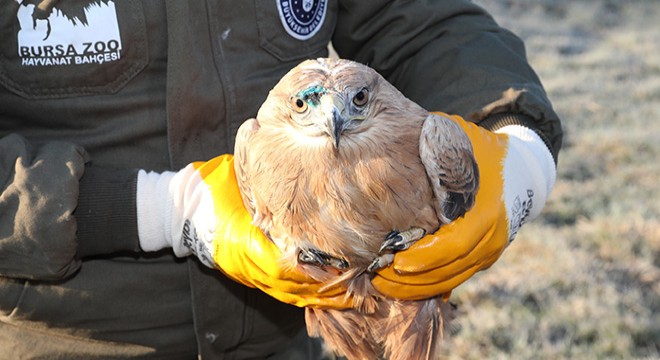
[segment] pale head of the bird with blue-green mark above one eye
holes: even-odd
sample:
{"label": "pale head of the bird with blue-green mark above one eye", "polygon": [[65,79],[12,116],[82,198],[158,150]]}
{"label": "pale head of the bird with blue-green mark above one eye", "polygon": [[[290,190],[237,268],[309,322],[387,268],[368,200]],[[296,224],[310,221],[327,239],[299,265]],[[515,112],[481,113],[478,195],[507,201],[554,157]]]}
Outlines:
{"label": "pale head of the bird with blue-green mark above one eye", "polygon": [[[370,129],[376,115],[390,103],[380,101],[390,91],[397,90],[362,64],[340,59],[307,60],[273,88],[266,100],[272,106],[266,107],[270,118],[277,117],[296,137],[314,144],[330,142],[337,149],[342,139]],[[277,116],[272,116],[273,106],[278,109]],[[262,111],[258,117],[261,121]]]}

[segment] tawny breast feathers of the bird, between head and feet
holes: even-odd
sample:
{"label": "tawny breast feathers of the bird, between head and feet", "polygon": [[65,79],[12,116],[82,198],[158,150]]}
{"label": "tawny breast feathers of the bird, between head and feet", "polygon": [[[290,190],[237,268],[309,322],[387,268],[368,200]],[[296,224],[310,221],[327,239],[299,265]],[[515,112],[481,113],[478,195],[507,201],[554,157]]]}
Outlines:
{"label": "tawny breast feathers of the bird, between head and feet", "polygon": [[[391,230],[437,228],[416,142],[388,147],[349,137],[334,149],[266,133],[254,142],[260,155],[250,181],[260,189],[254,191],[256,211],[263,212],[257,218],[267,219],[278,243],[313,245],[361,263],[373,259]],[[273,141],[278,145],[268,145]]]}

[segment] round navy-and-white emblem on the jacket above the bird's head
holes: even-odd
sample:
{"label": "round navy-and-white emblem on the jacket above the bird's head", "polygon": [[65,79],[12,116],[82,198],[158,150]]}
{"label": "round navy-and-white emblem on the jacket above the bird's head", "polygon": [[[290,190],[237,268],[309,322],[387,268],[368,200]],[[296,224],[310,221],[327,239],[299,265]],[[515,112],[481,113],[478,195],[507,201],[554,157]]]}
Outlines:
{"label": "round navy-and-white emblem on the jacket above the bird's head", "polygon": [[289,35],[307,40],[321,29],[328,0],[276,0],[280,20]]}

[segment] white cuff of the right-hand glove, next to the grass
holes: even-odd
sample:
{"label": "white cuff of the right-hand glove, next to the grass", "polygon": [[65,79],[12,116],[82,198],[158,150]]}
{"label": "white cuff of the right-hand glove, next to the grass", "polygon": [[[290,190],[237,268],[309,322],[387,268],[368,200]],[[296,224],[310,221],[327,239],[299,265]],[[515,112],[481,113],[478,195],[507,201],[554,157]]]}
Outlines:
{"label": "white cuff of the right-hand glove, next to the grass", "polygon": [[554,186],[557,170],[550,150],[531,129],[508,125],[496,132],[509,135],[503,176],[511,242],[523,223],[541,213]]}

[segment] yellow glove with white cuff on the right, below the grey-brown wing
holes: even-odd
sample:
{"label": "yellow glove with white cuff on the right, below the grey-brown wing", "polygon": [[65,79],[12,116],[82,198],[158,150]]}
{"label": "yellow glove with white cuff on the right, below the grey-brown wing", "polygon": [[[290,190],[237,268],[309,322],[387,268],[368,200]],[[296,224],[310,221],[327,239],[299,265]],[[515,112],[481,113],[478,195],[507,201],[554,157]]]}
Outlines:
{"label": "yellow glove with white cuff on the right, below the grey-brown wing", "polygon": [[490,267],[520,226],[541,212],[554,185],[555,164],[541,138],[521,125],[490,132],[459,116],[480,174],[474,207],[435,234],[397,253],[372,280],[381,293],[416,300],[445,294]]}

